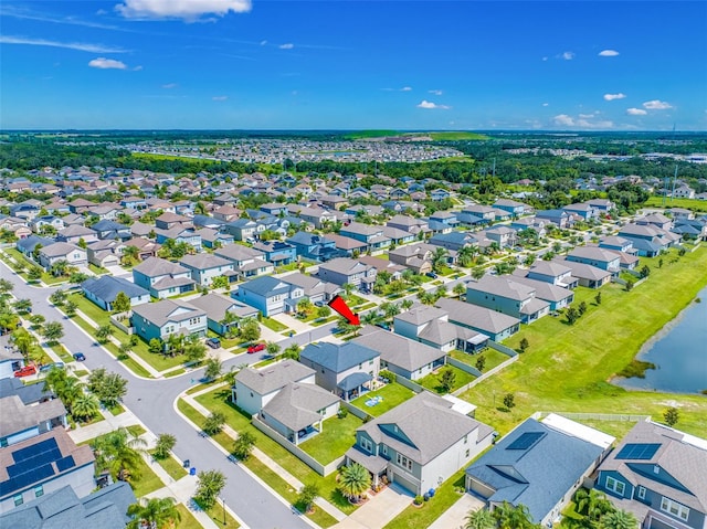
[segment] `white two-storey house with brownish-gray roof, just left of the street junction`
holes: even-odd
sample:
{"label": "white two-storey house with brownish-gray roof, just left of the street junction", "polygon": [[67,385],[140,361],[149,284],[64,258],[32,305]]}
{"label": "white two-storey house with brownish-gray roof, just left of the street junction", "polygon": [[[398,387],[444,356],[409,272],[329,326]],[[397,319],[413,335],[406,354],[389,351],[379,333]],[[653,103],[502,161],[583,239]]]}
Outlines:
{"label": "white two-storey house with brownish-gray roof, just left of the street junction", "polygon": [[186,301],[160,299],[133,307],[130,322],[135,334],[145,341],[158,338],[167,341],[170,335],[207,335],[207,313]]}

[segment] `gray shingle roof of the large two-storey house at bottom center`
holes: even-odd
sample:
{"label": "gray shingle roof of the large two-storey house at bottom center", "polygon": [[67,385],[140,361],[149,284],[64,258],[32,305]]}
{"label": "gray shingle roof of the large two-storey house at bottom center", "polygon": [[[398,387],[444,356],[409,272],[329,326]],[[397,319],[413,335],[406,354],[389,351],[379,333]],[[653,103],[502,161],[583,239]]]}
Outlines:
{"label": "gray shingle roof of the large two-storey house at bottom center", "polygon": [[478,440],[493,433],[490,426],[452,410],[452,406],[453,403],[423,391],[358,431],[425,465],[477,429]]}

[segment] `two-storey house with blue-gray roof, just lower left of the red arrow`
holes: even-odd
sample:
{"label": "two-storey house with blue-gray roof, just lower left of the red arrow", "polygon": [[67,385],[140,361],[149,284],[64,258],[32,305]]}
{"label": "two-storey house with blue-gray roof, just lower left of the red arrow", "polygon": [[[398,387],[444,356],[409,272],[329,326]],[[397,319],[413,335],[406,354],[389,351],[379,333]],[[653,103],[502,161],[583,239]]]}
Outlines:
{"label": "two-storey house with blue-gray roof, just lower left of the red arrow", "polygon": [[299,353],[299,361],[316,371],[317,385],[345,401],[369,391],[380,371],[380,353],[351,341],[309,343]]}

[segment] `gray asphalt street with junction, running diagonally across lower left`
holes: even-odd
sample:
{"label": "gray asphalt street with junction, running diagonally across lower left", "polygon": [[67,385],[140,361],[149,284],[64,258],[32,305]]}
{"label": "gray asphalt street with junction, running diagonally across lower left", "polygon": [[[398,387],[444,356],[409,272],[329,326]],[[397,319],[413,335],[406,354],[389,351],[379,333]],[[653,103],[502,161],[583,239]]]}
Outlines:
{"label": "gray asphalt street with junction, running diagonally across lower left", "polygon": [[[72,353],[83,352],[86,356],[84,363],[87,368],[92,370],[106,368],[128,380],[128,393],[124,399],[125,405],[155,434],[170,433],[175,435],[178,440],[173,449],[177,457],[190,459],[197,470],[217,468],[226,476],[228,483],[221,496],[249,527],[252,529],[308,529],[310,527],[294,514],[289,506],[283,504],[246,474],[240,465],[230,463],[210,440],[199,436],[194,429],[175,411],[177,395],[191,385],[191,380],[200,379],[203,375],[203,369],[167,379],[146,380],[135,377],[102,347],[94,346],[93,338],[66,320],[64,315],[49,303],[48,298],[56,287],[29,286],[4,263],[0,264],[0,276],[14,284],[13,295],[17,298],[32,300],[33,313],[42,314],[46,321],[64,324],[63,345]],[[317,328],[313,331],[312,338],[304,335],[288,339],[287,342],[296,338],[300,338],[302,342],[305,339],[319,339],[329,334],[331,327],[334,324]],[[224,366],[229,369],[230,366],[252,363],[260,359],[257,357],[256,355],[239,355],[224,362]]]}

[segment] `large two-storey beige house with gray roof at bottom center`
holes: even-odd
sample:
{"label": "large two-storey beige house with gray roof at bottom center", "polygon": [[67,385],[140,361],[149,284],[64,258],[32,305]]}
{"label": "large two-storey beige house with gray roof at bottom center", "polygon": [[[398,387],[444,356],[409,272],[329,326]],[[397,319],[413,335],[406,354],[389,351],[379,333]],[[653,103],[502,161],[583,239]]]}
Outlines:
{"label": "large two-storey beige house with gray roof at bottom center", "polygon": [[490,446],[494,429],[423,391],[356,431],[346,453],[372,475],[423,495]]}

